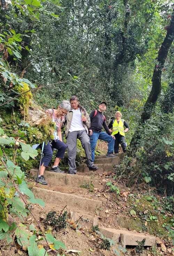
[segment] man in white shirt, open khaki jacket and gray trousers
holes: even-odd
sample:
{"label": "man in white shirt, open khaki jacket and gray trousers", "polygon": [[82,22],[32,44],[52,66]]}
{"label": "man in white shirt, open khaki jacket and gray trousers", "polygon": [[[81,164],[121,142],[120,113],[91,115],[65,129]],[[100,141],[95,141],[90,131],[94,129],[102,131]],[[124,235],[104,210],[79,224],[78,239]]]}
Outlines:
{"label": "man in white shirt, open khaki jacket and gray trousers", "polygon": [[85,150],[86,164],[90,171],[96,171],[97,166],[92,162],[91,147],[88,136],[90,127],[90,118],[85,108],[79,105],[79,100],[76,96],[70,99],[71,110],[66,114],[66,144],[68,147],[68,164],[69,173],[76,174],[76,149],[77,139],[81,141],[81,145]]}

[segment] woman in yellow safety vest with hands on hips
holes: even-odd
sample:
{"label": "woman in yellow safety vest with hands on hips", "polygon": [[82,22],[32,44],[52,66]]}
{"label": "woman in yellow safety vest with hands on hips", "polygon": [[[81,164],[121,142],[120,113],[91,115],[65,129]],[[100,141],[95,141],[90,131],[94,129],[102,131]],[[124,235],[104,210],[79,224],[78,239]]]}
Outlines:
{"label": "woman in yellow safety vest with hands on hips", "polygon": [[[114,143],[114,153],[119,153],[119,144],[121,145],[123,152],[126,152],[125,132],[129,130],[129,125],[121,117],[121,112],[117,111],[115,118],[112,119],[108,125],[110,132],[112,132],[112,135],[116,138]],[[124,126],[126,127],[125,130]]]}

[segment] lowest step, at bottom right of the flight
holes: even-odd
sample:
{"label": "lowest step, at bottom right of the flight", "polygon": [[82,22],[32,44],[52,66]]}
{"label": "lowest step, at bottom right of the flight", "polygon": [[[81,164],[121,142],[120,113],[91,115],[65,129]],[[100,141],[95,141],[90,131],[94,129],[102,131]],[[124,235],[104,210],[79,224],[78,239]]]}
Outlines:
{"label": "lowest step, at bottom right of the flight", "polygon": [[142,241],[144,238],[144,246],[153,246],[156,243],[155,236],[146,233],[138,233],[115,228],[101,228],[101,233],[104,234],[107,238],[114,240],[115,243],[120,242],[124,248],[126,247],[126,245],[136,246],[138,245],[136,241]]}

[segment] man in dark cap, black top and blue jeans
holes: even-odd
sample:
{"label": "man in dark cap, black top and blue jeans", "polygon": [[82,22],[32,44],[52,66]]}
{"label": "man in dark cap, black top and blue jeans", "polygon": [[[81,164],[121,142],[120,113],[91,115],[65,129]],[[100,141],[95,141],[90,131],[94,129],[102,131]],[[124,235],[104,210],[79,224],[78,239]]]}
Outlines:
{"label": "man in dark cap, black top and blue jeans", "polygon": [[[106,154],[106,157],[115,157],[115,155],[113,155],[115,137],[111,135],[111,132],[109,131],[108,126],[106,125],[106,118],[103,115],[103,112],[105,110],[106,110],[106,102],[102,101],[98,107],[98,110],[93,110],[89,115],[90,117],[89,135],[90,135],[90,145],[91,145],[93,162],[95,158],[95,147],[98,139],[108,142],[108,153]],[[102,132],[102,126],[104,127],[106,132]]]}

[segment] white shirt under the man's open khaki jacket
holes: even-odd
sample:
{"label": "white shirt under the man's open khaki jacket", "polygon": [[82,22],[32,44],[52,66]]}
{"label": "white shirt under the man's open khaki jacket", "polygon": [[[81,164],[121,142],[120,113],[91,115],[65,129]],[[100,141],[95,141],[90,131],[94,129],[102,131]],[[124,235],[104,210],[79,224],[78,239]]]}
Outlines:
{"label": "white shirt under the man's open khaki jacket", "polygon": [[78,109],[71,109],[71,110],[73,112],[73,115],[72,115],[72,121],[71,121],[69,132],[85,130],[85,127],[83,126],[83,122],[81,121],[80,109],[78,108]]}

